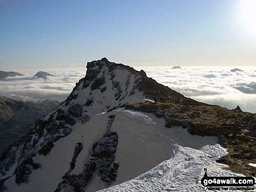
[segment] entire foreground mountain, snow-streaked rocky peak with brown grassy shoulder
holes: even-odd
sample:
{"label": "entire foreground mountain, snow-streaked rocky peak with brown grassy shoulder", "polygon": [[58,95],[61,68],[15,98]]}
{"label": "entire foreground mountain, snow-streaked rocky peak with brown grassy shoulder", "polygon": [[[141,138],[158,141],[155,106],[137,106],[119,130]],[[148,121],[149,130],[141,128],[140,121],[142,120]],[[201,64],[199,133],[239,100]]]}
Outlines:
{"label": "entire foreground mountain, snow-streaked rocky peak with brown grassy shoulder", "polygon": [[[248,163],[255,161],[255,142],[255,114],[186,98],[143,70],[102,58],[89,62],[85,77],[68,98],[1,155],[0,187],[19,192],[92,192],[118,186],[154,167],[167,170],[161,163],[168,160],[175,161],[170,163],[175,170],[170,179],[188,175],[193,189],[204,189],[196,182],[203,167],[195,169],[199,165],[195,159],[206,166],[204,159],[219,154],[211,160],[214,174],[251,175],[255,169]],[[217,159],[233,172],[222,172]],[[140,178],[151,181],[152,175]],[[147,189],[171,190],[171,186],[157,183]]]}

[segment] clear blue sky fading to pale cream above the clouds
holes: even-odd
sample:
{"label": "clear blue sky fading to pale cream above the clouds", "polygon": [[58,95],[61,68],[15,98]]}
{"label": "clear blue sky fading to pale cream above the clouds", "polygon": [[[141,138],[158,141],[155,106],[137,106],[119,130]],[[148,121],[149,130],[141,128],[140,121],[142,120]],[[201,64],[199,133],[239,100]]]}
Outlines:
{"label": "clear blue sky fading to pale cream above the clouds", "polygon": [[244,4],[0,0],[0,70],[83,67],[102,57],[131,66],[253,66],[256,3]]}

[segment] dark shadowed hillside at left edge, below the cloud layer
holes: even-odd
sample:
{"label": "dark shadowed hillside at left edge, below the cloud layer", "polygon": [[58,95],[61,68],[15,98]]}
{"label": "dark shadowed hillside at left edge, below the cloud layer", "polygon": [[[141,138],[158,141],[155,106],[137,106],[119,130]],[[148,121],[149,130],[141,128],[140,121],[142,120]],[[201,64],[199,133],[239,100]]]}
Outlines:
{"label": "dark shadowed hillside at left edge, below the cloud layer", "polygon": [[20,140],[37,121],[60,104],[59,101],[20,101],[0,96],[0,153]]}

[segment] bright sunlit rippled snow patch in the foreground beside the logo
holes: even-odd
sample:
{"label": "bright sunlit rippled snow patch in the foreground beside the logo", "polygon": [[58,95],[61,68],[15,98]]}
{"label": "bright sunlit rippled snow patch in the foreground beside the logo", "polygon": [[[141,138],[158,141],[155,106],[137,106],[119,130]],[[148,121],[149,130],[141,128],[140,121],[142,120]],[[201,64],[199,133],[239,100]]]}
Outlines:
{"label": "bright sunlit rippled snow patch in the foreground beside the logo", "polygon": [[170,191],[204,191],[200,180],[207,168],[208,176],[242,176],[225,171],[227,165],[215,160],[227,152],[220,145],[206,145],[201,149],[174,145],[174,157],[164,161],[149,171],[123,182],[120,185],[100,192],[170,192]]}

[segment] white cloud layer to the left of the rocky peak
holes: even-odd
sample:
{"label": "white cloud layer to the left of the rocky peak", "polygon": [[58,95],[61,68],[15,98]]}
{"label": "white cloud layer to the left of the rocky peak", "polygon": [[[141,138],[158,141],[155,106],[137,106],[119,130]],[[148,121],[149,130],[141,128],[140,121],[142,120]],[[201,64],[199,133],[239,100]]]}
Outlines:
{"label": "white cloud layer to the left of the rocky peak", "polygon": [[25,72],[25,76],[7,77],[0,81],[0,95],[63,101],[71,93],[75,83],[85,76],[86,68],[45,71],[54,76],[48,76],[46,79],[35,78],[37,71],[29,71]]}

